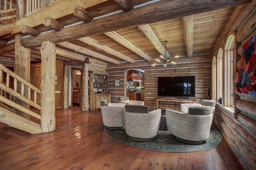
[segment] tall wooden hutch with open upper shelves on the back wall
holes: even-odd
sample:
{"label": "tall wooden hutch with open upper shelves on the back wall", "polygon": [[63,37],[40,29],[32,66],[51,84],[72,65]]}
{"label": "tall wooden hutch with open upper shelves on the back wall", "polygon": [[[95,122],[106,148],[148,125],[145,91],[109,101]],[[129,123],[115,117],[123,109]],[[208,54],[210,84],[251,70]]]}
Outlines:
{"label": "tall wooden hutch with open upper shelves on the back wall", "polygon": [[101,108],[101,100],[106,99],[111,102],[111,93],[109,93],[109,75],[89,71],[89,96],[90,110],[97,111]]}

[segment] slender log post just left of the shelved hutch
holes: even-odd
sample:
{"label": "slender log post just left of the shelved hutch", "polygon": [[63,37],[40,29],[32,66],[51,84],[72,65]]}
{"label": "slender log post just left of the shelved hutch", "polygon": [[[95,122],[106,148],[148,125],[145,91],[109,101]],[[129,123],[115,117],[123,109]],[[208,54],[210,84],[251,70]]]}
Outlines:
{"label": "slender log post just left of the shelved hutch", "polygon": [[88,80],[89,80],[88,63],[84,63],[82,65],[82,111],[89,111]]}

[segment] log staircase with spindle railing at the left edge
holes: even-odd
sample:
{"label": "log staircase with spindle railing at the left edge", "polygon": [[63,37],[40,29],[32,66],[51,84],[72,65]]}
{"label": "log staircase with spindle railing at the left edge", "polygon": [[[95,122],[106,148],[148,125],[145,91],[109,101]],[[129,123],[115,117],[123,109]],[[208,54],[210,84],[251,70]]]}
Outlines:
{"label": "log staircase with spindle railing at the left edge", "polygon": [[[10,81],[10,79],[13,79],[13,81]],[[41,91],[38,88],[0,64],[1,123],[27,131],[31,134],[42,133],[43,130],[40,124],[31,121],[29,118],[20,116],[25,114],[29,115],[28,117],[32,116],[36,118],[37,121],[41,120],[42,117],[40,114],[30,110],[30,107],[34,107],[39,111],[42,110],[42,107],[36,103],[39,95],[41,95]]]}

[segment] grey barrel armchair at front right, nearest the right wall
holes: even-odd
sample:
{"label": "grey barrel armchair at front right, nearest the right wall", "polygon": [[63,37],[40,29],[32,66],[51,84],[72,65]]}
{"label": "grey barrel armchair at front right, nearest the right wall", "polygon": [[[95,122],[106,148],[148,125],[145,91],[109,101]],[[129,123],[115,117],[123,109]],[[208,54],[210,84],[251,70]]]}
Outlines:
{"label": "grey barrel armchair at front right, nearest the right wall", "polygon": [[168,130],[182,142],[200,144],[209,138],[213,107],[189,107],[188,113],[166,109]]}

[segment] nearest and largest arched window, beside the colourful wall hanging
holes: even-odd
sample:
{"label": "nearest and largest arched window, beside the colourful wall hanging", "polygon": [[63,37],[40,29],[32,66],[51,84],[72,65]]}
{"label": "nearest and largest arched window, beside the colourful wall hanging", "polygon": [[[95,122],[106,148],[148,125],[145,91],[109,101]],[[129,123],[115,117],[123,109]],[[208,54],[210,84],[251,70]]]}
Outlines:
{"label": "nearest and largest arched window, beside the colourful wall hanging", "polygon": [[229,35],[224,47],[224,93],[223,105],[234,108],[234,58],[236,57],[236,41],[234,35]]}

